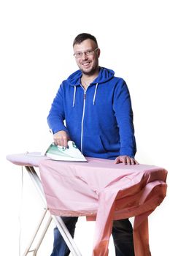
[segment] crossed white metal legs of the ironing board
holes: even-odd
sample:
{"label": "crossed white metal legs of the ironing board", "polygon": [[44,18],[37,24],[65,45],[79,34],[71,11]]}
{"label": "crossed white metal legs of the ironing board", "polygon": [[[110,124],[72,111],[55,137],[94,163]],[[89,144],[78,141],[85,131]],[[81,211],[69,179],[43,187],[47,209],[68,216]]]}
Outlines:
{"label": "crossed white metal legs of the ironing board", "polygon": [[[36,170],[32,166],[26,166],[26,170],[27,170],[31,180],[34,183],[34,186],[38,190],[39,195],[42,197],[42,200],[46,205],[45,194],[44,194],[44,191],[43,191],[43,188],[42,188],[42,183],[41,183],[41,180],[40,180],[39,176],[36,173]],[[60,231],[61,236],[63,236],[64,241],[66,241],[66,244],[69,247],[70,252],[72,253],[72,255],[73,256],[82,256],[81,253],[80,253],[80,250],[77,248],[77,245],[75,244],[74,239],[70,235],[69,230],[66,228],[66,225],[63,223],[63,220],[61,219],[61,217],[52,215],[50,218],[53,218],[53,220],[55,222],[55,225],[58,227],[58,230]],[[40,222],[39,224],[41,226],[42,223]],[[48,225],[48,223],[47,223],[47,225]],[[48,226],[47,225],[46,225],[46,227],[48,228],[50,223],[49,223]],[[47,228],[46,228],[45,233],[47,232]],[[36,252],[39,249],[40,244],[42,243],[42,240],[45,236],[45,233],[42,234],[42,239],[39,241],[38,246],[36,246],[36,250],[34,250],[34,256],[36,256]],[[35,236],[36,236],[36,234],[35,234]],[[34,239],[35,239],[35,237],[32,239],[30,244],[33,243]],[[31,252],[31,251],[29,251],[29,252]],[[28,252],[27,252],[27,254],[28,254]],[[26,256],[27,254],[25,254],[23,256]]]}

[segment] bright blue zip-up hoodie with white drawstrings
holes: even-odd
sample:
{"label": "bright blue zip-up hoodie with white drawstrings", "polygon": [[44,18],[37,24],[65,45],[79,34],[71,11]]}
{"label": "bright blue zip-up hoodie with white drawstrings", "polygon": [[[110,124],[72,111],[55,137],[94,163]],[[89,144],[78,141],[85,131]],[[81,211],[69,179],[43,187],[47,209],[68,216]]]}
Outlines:
{"label": "bright blue zip-up hoodie with white drawstrings", "polygon": [[85,91],[81,76],[77,70],[61,83],[47,117],[50,129],[68,132],[86,157],[134,157],[133,112],[125,81],[111,69],[100,67]]}

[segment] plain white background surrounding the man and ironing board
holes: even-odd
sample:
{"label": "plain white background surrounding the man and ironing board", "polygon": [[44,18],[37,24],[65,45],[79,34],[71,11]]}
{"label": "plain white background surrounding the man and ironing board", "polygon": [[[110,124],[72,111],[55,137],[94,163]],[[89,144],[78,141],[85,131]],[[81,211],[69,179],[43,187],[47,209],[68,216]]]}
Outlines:
{"label": "plain white background surrounding the man and ironing board", "polygon": [[[7,162],[7,154],[41,151],[51,140],[47,114],[61,81],[77,69],[72,41],[94,34],[99,64],[115,70],[131,92],[136,130],[136,159],[169,165],[169,1],[9,1],[0,4],[1,255],[19,255],[28,244],[41,199],[27,173]],[[168,177],[169,183],[169,177]],[[169,190],[150,216],[152,256],[169,255]],[[75,240],[90,255],[94,223],[83,217]],[[53,224],[38,256],[50,255]],[[114,255],[110,243],[110,255]],[[3,252],[3,253],[2,253]],[[31,255],[31,254],[30,254]]]}

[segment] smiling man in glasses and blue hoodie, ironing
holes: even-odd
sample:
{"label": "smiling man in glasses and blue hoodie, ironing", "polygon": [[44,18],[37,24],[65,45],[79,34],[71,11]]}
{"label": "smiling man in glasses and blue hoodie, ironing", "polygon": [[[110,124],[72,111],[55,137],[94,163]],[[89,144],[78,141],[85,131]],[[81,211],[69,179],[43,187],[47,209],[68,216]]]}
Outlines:
{"label": "smiling man in glasses and blue hoodie, ironing", "polygon": [[[86,157],[137,164],[131,98],[125,81],[116,78],[111,69],[98,66],[100,49],[91,34],[77,35],[73,49],[79,70],[61,83],[47,117],[55,144],[67,147],[71,139]],[[72,236],[77,219],[63,217]],[[114,221],[112,236],[117,256],[134,255],[128,219]],[[51,256],[67,255],[69,248],[55,228]]]}

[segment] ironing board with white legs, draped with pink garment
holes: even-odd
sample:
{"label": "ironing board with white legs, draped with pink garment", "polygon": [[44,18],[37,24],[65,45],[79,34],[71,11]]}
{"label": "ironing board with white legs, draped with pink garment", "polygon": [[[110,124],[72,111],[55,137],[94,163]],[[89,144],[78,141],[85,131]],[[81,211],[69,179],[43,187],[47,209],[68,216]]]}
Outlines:
{"label": "ironing board with white legs, draped with pink garment", "polygon": [[[114,165],[112,160],[90,157],[87,163],[56,162],[35,157],[34,153],[9,155],[7,159],[26,167],[51,214],[46,230],[53,218],[72,255],[81,253],[60,216],[96,219],[93,256],[108,255],[112,220],[135,217],[135,255],[150,255],[147,217],[166,196],[165,169],[152,165]],[[39,167],[41,180],[34,167]]]}

